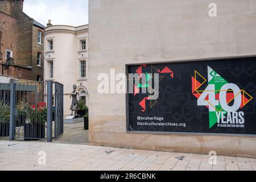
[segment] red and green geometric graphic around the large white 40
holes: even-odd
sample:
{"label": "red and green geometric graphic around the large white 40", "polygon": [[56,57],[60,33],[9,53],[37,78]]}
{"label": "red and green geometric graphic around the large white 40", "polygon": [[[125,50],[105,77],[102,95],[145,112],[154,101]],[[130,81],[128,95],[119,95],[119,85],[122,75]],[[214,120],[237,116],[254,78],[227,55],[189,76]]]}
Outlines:
{"label": "red and green geometric graphic around the large white 40", "polygon": [[[217,115],[221,115],[221,113],[226,115],[231,111],[236,112],[232,109],[242,109],[253,100],[253,97],[245,90],[238,88],[235,84],[230,84],[209,66],[208,86],[205,85],[206,83],[207,79],[195,71],[195,75],[192,76],[192,94],[198,99],[199,106],[205,105],[209,109],[209,128],[218,122]],[[200,89],[205,88],[205,86],[207,86],[206,89]],[[230,110],[226,111],[228,109],[225,110],[223,105]]]}

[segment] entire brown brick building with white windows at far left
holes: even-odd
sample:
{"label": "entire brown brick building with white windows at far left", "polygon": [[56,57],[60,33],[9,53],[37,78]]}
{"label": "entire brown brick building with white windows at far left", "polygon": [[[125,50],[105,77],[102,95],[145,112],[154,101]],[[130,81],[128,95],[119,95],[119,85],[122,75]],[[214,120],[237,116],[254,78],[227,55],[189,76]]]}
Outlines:
{"label": "entire brown brick building with white windows at far left", "polygon": [[44,26],[23,13],[23,0],[0,0],[0,75],[43,80]]}

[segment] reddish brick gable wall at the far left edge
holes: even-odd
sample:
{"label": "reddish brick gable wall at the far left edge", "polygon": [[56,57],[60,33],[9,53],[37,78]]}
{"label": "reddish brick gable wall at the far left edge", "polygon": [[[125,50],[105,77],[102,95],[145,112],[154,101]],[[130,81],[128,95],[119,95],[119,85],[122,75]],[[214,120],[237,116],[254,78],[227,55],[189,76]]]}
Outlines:
{"label": "reddish brick gable wall at the far left edge", "polygon": [[[13,51],[13,57],[17,56],[17,19],[0,13],[0,30],[2,31],[1,53],[5,63],[6,49]],[[1,60],[0,60],[1,61]]]}

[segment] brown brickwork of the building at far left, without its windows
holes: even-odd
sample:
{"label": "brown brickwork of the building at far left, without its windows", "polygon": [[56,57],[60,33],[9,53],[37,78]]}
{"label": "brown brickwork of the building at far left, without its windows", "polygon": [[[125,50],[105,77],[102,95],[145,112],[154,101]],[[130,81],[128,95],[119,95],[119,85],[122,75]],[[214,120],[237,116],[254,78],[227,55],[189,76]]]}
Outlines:
{"label": "brown brickwork of the building at far left, without its windows", "polygon": [[[20,70],[22,67],[32,67],[32,71],[24,71],[31,75],[27,77],[31,80],[36,80],[37,76],[43,78],[43,45],[37,43],[37,32],[38,30],[43,32],[43,29],[35,27],[34,19],[23,13],[23,0],[0,0],[0,12],[3,12],[0,13],[0,31],[1,26],[3,29],[1,48],[3,57],[5,58],[5,49],[11,49],[14,64],[19,65]],[[37,66],[38,52],[42,53],[42,67]],[[20,70],[14,69],[18,72]],[[12,71],[6,73],[14,74]],[[18,74],[20,76],[20,73]]]}

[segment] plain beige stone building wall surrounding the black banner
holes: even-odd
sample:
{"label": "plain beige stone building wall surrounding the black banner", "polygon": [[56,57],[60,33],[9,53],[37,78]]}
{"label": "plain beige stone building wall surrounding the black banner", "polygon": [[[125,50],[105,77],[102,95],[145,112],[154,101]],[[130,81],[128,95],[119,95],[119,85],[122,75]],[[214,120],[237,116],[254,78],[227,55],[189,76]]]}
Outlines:
{"label": "plain beige stone building wall surrounding the black banner", "polygon": [[89,1],[90,142],[142,150],[216,151],[218,155],[256,157],[255,135],[131,132],[126,122],[127,94],[97,91],[100,73],[110,74],[110,69],[116,74],[126,73],[130,64],[256,56],[256,1],[214,1],[216,17],[209,15],[210,3]]}

